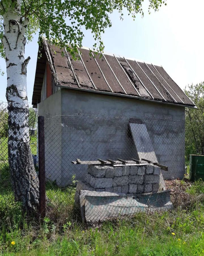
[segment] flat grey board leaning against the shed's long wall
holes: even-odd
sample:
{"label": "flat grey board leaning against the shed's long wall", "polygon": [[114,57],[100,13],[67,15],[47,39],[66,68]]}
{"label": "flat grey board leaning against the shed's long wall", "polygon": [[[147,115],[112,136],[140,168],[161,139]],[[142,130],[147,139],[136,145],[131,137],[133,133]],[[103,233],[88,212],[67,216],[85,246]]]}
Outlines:
{"label": "flat grey board leaning against the shed's long wall", "polygon": [[152,162],[158,162],[146,125],[144,123],[129,123],[129,126],[139,160],[145,158]]}

